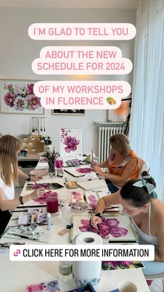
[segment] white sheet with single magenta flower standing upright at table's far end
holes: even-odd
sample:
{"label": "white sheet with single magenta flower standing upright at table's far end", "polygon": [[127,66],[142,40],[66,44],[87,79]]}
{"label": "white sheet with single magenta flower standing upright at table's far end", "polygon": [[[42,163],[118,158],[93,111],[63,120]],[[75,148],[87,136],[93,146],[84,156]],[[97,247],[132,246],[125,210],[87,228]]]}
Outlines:
{"label": "white sheet with single magenta flower standing upright at table's far end", "polygon": [[82,129],[60,129],[60,156],[82,153]]}

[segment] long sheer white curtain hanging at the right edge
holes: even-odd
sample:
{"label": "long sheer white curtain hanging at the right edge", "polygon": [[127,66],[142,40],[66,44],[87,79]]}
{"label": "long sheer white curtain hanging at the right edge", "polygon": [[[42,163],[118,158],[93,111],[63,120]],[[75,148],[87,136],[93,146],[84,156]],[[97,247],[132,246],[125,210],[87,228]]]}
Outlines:
{"label": "long sheer white curtain hanging at the right edge", "polygon": [[142,0],[137,10],[131,147],[156,180],[164,199],[164,1]]}

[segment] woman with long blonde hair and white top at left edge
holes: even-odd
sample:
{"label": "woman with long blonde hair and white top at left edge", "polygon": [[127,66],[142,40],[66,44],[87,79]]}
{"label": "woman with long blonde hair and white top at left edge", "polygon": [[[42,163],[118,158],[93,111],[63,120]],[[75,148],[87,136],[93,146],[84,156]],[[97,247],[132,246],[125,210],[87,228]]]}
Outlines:
{"label": "woman with long blonde hair and white top at left edge", "polygon": [[[17,167],[17,153],[21,148],[22,143],[13,136],[5,135],[0,138],[0,236],[11,217],[8,210],[44,194],[44,188],[40,187],[31,194],[15,198],[14,187],[18,185],[18,176],[30,180],[30,176]],[[38,180],[40,177],[35,176],[34,179]]]}

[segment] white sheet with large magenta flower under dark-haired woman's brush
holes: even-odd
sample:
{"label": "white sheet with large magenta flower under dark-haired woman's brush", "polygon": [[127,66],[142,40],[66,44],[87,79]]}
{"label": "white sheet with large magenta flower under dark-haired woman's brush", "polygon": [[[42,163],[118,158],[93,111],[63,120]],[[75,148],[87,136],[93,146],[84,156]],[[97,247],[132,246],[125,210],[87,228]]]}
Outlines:
{"label": "white sheet with large magenta flower under dark-haired woman's brush", "polygon": [[138,236],[127,215],[103,215],[98,229],[90,226],[90,215],[72,216],[71,242],[79,232],[91,231],[101,236],[103,243],[137,243]]}

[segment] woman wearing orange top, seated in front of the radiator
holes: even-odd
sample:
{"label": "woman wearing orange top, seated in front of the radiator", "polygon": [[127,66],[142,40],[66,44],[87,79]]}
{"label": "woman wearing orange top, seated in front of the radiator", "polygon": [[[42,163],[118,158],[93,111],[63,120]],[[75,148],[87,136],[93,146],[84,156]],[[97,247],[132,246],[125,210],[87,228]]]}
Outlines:
{"label": "woman wearing orange top, seated in front of the radiator", "polygon": [[[115,134],[109,139],[110,153],[104,162],[93,162],[92,167],[97,174],[106,178],[111,193],[117,192],[127,180],[138,178],[138,155],[131,150],[129,139],[123,134]],[[101,170],[107,167],[108,172]]]}

